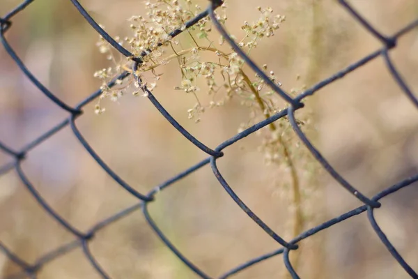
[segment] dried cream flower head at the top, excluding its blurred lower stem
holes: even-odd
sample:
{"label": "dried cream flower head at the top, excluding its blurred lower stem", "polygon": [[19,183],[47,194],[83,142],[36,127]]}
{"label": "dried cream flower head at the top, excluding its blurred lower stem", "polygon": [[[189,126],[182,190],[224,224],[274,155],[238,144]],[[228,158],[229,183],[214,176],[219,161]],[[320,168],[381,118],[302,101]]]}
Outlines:
{"label": "dried cream flower head at the top, excluding its blurred lower stem", "polygon": [[[235,96],[240,97],[240,103],[248,107],[254,105],[258,107],[257,102],[262,101],[265,107],[261,116],[277,112],[279,105],[272,98],[272,91],[265,86],[260,77],[250,78],[245,73],[244,63],[235,52],[229,47],[222,47],[224,40],[216,33],[212,33],[212,24],[208,18],[185,29],[185,23],[202,11],[200,6],[192,4],[192,0],[185,1],[184,5],[180,5],[178,0],[156,0],[147,1],[145,7],[146,15],[135,15],[129,19],[133,36],[123,38],[123,40],[115,38],[118,43],[130,49],[135,56],[146,54],[144,63],[137,71],[137,75],[144,80],[144,84],[137,84],[132,79],[120,82],[121,86],[118,86],[118,89],[107,88],[106,84],[112,77],[123,70],[131,71],[132,62],[129,59],[116,62],[112,47],[106,40],[100,38],[97,44],[100,52],[106,54],[107,59],[114,62],[114,66],[98,70],[94,74],[103,82],[101,87],[103,93],[100,99],[110,98],[116,101],[127,91],[131,91],[135,96],[144,95],[140,94],[141,86],[147,86],[152,91],[157,86],[157,81],[160,80],[160,75],[155,69],[174,60],[178,63],[182,76],[175,89],[196,98],[196,105],[187,111],[189,119],[199,122],[201,114],[207,108],[219,107]],[[244,33],[239,45],[248,53],[257,47],[262,38],[274,36],[274,31],[279,29],[285,20],[282,15],[274,16],[272,8],[257,7],[256,9],[260,14],[259,19],[251,24],[244,22],[241,27]],[[217,17],[224,24],[228,18],[226,3],[220,10]],[[180,39],[169,36],[169,33],[176,29],[185,31]],[[183,42],[182,38],[189,40],[190,43]],[[264,68],[266,70],[267,65],[264,65]],[[145,76],[147,72],[151,75]],[[273,71],[270,71],[270,78],[281,85]],[[199,86],[201,84],[206,84],[206,88],[202,90]],[[200,91],[206,91],[212,96],[208,104],[202,104],[199,101]],[[260,107],[256,110],[259,111]],[[95,112],[98,114],[104,112],[100,103],[96,105]],[[254,116],[258,114],[254,113]],[[254,121],[257,120],[256,118],[254,117]]]}

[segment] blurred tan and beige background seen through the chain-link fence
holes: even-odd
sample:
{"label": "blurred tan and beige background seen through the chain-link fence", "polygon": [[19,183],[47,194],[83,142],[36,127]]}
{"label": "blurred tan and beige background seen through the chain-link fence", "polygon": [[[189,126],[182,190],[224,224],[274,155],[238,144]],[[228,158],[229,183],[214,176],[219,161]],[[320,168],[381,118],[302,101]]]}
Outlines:
{"label": "blurred tan and beige background seen through the chain-link fence", "polygon": [[[81,1],[113,35],[128,31],[127,18],[141,15],[142,1]],[[381,47],[332,0],[229,0],[231,33],[258,19],[256,6],[286,15],[276,36],[251,52],[268,63],[285,90],[311,86]],[[3,0],[5,15],[20,1]],[[379,31],[392,34],[418,17],[416,0],[351,0]],[[206,5],[206,1],[201,1]],[[233,11],[233,12],[231,12]],[[13,18],[6,38],[31,72],[61,100],[75,105],[98,89],[95,70],[108,61],[98,52],[96,33],[70,1],[34,1]],[[391,51],[396,67],[418,92],[418,29]],[[0,141],[20,149],[68,114],[36,89],[0,47]],[[167,65],[155,89],[162,105],[208,146],[235,135],[248,110],[230,102],[206,112],[201,123],[187,119],[194,99],[173,90],[179,73]],[[300,80],[297,80],[300,75]],[[106,112],[85,107],[77,126],[103,160],[141,193],[193,165],[206,155],[180,135],[146,98],[104,101]],[[392,80],[381,58],[307,101],[310,139],[365,195],[418,172],[418,111]],[[218,160],[226,181],[278,234],[291,239],[292,214],[285,167],[265,165],[260,140],[251,135]],[[0,153],[0,163],[10,161]],[[306,159],[309,160],[309,159]],[[360,203],[312,163],[296,161],[304,195],[303,230],[354,209]],[[77,142],[70,128],[33,149],[22,165],[43,197],[66,220],[84,231],[137,200],[114,182]],[[418,189],[382,199],[376,219],[398,252],[418,269]],[[150,204],[157,225],[174,245],[211,276],[220,276],[253,257],[279,248],[226,194],[209,166],[157,195]],[[74,237],[36,201],[14,171],[0,176],[0,240],[28,262]],[[366,215],[350,218],[302,241],[297,271],[302,278],[408,278],[373,232]],[[103,229],[91,251],[111,278],[197,278],[146,224],[141,212]],[[0,278],[19,271],[0,254]],[[286,278],[282,257],[273,257],[233,278]],[[38,278],[100,278],[81,249],[47,264]]]}

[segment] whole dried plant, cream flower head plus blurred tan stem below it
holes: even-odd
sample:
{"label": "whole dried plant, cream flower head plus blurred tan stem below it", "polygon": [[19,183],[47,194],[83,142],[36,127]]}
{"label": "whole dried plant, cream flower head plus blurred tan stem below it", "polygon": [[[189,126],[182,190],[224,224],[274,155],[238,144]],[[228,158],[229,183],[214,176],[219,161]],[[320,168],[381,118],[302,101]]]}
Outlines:
{"label": "whole dried plant, cream flower head plus blurred tan stem below it", "polygon": [[[129,19],[132,37],[116,38],[118,43],[124,45],[135,56],[145,54],[144,63],[135,72],[135,75],[140,77],[137,80],[141,80],[141,84],[132,77],[126,82],[117,81],[116,89],[110,90],[107,87],[107,82],[123,70],[132,73],[133,62],[126,58],[117,62],[111,46],[100,38],[97,44],[100,52],[106,54],[107,59],[114,63],[114,66],[98,70],[94,74],[103,82],[100,100],[110,98],[116,101],[127,91],[132,92],[134,96],[146,97],[141,89],[146,86],[153,91],[160,80],[156,69],[167,63],[178,63],[181,80],[174,89],[196,99],[195,105],[187,110],[189,119],[196,123],[201,121],[201,114],[205,110],[220,107],[232,99],[239,100],[239,103],[249,108],[249,119],[242,123],[239,130],[270,117],[284,107],[285,104],[261,77],[246,72],[245,63],[240,56],[233,52],[229,45],[224,44],[222,36],[212,32],[212,23],[208,18],[186,29],[186,22],[201,13],[202,8],[199,5],[194,4],[192,0],[154,0],[147,1],[145,6],[145,15],[135,15]],[[217,10],[217,19],[222,24],[228,20],[226,10],[226,3]],[[251,23],[243,22],[240,40],[233,36],[247,54],[254,50],[261,40],[274,36],[285,20],[283,15],[274,15],[272,8],[256,7],[256,10],[258,20]],[[169,34],[176,29],[184,32],[179,37],[171,38]],[[268,65],[263,65],[263,70],[268,71],[270,79],[281,86]],[[199,100],[202,91],[210,96],[208,103],[201,103]],[[293,89],[292,93],[295,94],[297,91],[300,90]],[[100,103],[96,105],[95,112],[104,112]],[[292,187],[288,190],[288,196],[292,196],[291,207],[295,214],[292,234],[298,234],[304,223],[300,179],[295,167],[296,156],[300,156],[302,152],[298,149],[298,141],[291,132],[287,119],[271,123],[268,128],[258,131],[257,134],[261,135],[260,151],[265,154],[265,163],[278,164],[290,170],[289,180]]]}

